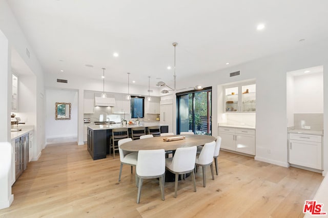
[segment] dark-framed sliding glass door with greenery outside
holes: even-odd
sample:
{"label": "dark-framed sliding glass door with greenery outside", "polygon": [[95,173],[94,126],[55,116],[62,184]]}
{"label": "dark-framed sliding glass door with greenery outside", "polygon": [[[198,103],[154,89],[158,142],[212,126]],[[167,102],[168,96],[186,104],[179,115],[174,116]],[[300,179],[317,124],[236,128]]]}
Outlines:
{"label": "dark-framed sliding glass door with greenery outside", "polygon": [[212,87],[177,93],[177,134],[212,135]]}

